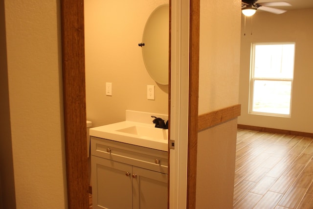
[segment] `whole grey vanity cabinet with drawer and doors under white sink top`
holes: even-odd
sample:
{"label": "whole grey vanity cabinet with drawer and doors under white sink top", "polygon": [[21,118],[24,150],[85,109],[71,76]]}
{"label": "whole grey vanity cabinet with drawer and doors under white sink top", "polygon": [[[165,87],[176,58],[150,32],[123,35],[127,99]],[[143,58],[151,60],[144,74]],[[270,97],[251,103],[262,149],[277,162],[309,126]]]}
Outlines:
{"label": "whole grey vanity cabinet with drawer and doors under white sink top", "polygon": [[167,209],[168,153],[91,137],[94,209]]}

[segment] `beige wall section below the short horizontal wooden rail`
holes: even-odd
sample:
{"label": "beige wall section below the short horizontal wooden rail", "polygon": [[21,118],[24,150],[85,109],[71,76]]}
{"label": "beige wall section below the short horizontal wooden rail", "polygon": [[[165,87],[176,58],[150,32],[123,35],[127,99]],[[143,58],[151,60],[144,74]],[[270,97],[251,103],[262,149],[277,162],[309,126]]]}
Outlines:
{"label": "beige wall section below the short horizontal wooden rail", "polygon": [[232,209],[237,120],[198,134],[198,209]]}

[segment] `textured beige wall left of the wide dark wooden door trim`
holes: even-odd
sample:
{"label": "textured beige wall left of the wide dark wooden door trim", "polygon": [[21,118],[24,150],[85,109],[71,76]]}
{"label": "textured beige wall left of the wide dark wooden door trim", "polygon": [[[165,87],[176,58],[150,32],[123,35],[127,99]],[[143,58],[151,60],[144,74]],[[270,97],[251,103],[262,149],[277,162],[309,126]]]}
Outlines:
{"label": "textured beige wall left of the wide dark wooden door trim", "polygon": [[[8,87],[4,93],[1,89],[1,109],[10,109],[10,116],[4,115],[4,127],[1,123],[0,147],[7,148],[4,156],[11,165],[2,164],[1,150],[1,185],[2,192],[9,191],[13,184],[5,179],[14,178],[18,209],[67,208],[58,2],[4,2],[7,67],[1,60],[1,68],[7,71]],[[14,196],[2,201],[3,208],[15,208]]]}

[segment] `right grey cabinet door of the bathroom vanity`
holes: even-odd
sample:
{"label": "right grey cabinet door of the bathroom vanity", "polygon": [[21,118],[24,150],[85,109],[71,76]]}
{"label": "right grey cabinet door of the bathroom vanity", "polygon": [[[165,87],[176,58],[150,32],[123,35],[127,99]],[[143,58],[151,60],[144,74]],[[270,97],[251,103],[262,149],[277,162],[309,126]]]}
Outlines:
{"label": "right grey cabinet door of the bathroom vanity", "polygon": [[133,209],[167,209],[168,175],[133,166]]}

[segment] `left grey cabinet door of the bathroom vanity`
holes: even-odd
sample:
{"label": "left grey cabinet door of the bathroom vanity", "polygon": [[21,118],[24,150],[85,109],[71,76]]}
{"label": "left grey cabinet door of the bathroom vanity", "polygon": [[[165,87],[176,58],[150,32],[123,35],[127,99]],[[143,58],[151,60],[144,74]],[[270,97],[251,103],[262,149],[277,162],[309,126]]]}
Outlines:
{"label": "left grey cabinet door of the bathroom vanity", "polygon": [[132,166],[91,156],[93,209],[132,209]]}

